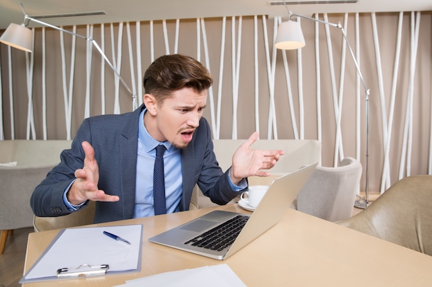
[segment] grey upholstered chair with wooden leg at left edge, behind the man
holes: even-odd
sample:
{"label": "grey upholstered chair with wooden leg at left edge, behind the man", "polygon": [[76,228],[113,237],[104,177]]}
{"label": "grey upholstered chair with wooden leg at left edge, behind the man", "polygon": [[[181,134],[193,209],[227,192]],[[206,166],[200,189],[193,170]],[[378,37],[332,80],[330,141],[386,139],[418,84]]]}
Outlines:
{"label": "grey upholstered chair with wooden leg at left edge, behind the man", "polygon": [[40,167],[0,166],[0,254],[3,254],[14,229],[32,226],[30,197],[52,167],[54,164]]}

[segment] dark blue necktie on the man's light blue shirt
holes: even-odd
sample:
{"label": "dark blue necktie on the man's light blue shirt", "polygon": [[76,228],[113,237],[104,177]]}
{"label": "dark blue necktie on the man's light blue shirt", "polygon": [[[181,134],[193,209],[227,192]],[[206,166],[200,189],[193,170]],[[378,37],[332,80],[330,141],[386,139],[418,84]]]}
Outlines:
{"label": "dark blue necktie on the man's light blue shirt", "polygon": [[166,213],[165,177],[164,177],[164,145],[156,147],[155,169],[153,171],[153,204],[155,215]]}

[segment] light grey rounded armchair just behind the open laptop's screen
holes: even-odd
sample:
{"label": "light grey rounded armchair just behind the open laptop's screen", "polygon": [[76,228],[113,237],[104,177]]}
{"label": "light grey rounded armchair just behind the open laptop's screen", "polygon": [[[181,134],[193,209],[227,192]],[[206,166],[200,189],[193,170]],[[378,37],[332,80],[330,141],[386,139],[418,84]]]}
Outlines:
{"label": "light grey rounded armchair just behind the open laptop's screen", "polygon": [[351,217],[362,164],[344,158],[339,167],[316,167],[292,207],[331,222]]}

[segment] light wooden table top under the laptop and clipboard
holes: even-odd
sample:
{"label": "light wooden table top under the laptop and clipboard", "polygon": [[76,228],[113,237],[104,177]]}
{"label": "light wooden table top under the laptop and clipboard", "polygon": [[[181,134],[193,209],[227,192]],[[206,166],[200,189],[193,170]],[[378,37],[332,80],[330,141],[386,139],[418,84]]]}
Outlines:
{"label": "light wooden table top under the laptop and clipboard", "polygon": [[[139,273],[28,283],[23,286],[116,286],[173,270],[228,264],[247,286],[432,286],[432,257],[289,209],[283,220],[224,261],[148,242],[212,211],[198,209],[93,226],[143,224]],[[247,213],[237,204],[216,209]],[[58,231],[30,233],[24,272]]]}

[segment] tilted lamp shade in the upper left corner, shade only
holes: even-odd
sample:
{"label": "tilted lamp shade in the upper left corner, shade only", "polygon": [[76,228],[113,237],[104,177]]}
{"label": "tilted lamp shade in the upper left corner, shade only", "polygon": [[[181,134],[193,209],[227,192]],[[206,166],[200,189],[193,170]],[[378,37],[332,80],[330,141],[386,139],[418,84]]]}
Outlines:
{"label": "tilted lamp shade in the upper left corner, shade only", "polygon": [[32,30],[24,25],[10,23],[0,37],[0,42],[26,52],[33,52]]}

